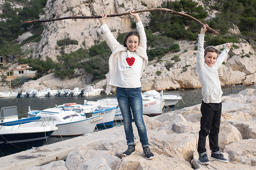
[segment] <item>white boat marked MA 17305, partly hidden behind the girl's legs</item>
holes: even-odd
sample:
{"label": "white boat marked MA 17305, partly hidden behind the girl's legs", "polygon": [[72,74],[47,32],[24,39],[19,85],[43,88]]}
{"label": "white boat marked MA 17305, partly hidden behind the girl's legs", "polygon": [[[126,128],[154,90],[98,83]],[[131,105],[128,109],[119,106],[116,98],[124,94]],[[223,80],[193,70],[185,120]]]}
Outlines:
{"label": "white boat marked MA 17305, partly hidden behind the girl's legs", "polygon": [[[156,116],[162,114],[162,109],[164,106],[164,101],[162,97],[156,99],[153,97],[147,97],[143,93],[141,93],[142,97],[142,109],[143,114],[148,116]],[[92,105],[100,105],[101,107],[117,107],[115,120],[123,120],[120,108],[118,107],[118,102],[116,97],[112,98],[104,98],[95,101],[86,101],[84,100],[84,104],[92,104]]]}

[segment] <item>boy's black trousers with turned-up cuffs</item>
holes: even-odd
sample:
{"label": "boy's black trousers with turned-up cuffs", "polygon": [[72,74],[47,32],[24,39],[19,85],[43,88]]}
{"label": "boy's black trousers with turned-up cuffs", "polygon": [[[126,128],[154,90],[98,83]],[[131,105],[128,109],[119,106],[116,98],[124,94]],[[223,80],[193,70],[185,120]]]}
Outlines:
{"label": "boy's black trousers with turned-up cuffs", "polygon": [[199,154],[206,152],[206,136],[209,135],[210,149],[213,152],[220,150],[218,145],[221,117],[221,103],[204,103],[201,104],[201,121],[197,145]]}

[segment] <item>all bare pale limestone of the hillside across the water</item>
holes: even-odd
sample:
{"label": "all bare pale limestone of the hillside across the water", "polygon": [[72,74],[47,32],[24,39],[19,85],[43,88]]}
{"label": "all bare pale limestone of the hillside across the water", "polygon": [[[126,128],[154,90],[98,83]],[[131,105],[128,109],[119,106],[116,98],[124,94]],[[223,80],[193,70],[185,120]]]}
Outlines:
{"label": "all bare pale limestone of the hillside across the water", "polygon": [[[164,0],[141,0],[141,1],[122,1],[122,0],[48,0],[45,7],[45,15],[41,19],[53,19],[67,16],[92,16],[100,13],[115,14],[127,12],[130,9],[141,10],[148,8],[157,8]],[[199,5],[203,5],[202,1],[197,1]],[[147,6],[145,6],[145,4]],[[207,9],[207,6],[204,6]],[[214,17],[215,12],[208,9],[209,17]],[[140,18],[144,25],[147,25],[149,12],[140,13]],[[113,35],[117,37],[118,33],[129,32],[131,28],[131,18],[129,15],[113,17],[106,19],[108,27]],[[230,29],[233,34],[239,34],[239,29],[234,27]],[[56,61],[56,56],[61,55],[61,47],[57,45],[57,41],[69,38],[76,40],[78,45],[65,46],[64,52],[70,53],[79,48],[88,49],[92,45],[105,41],[100,30],[99,19],[66,19],[54,22],[44,23],[44,31],[41,35],[41,41],[34,44],[33,58],[45,59],[49,56]],[[225,64],[219,68],[219,76],[221,85],[230,83],[241,83],[245,85],[256,83],[256,53],[250,44],[245,40],[242,43],[229,43],[231,46],[236,45],[228,54]],[[162,58],[161,62],[153,60],[146,66],[141,83],[142,90],[162,90],[162,89],[189,89],[200,88],[201,84],[196,73],[196,42],[178,41],[180,52],[169,53]],[[27,46],[26,44],[24,47]],[[225,44],[215,46],[214,48],[221,52]],[[30,46],[31,47],[31,46]],[[179,55],[180,61],[171,60],[175,55]],[[172,67],[167,69],[166,64],[171,63]],[[161,74],[156,74],[161,71]],[[79,73],[79,70],[76,71]],[[28,87],[35,89],[43,89],[50,87],[52,89],[73,89],[75,87],[86,87],[91,84],[91,75],[79,74],[77,78],[72,80],[60,80],[53,76],[53,73],[46,75],[36,81],[25,83],[22,90]],[[40,85],[39,85],[40,84]],[[43,86],[43,85],[44,86]],[[102,80],[95,84],[94,88],[102,88],[106,84],[106,80]],[[5,87],[7,88],[7,87]],[[16,91],[19,91],[17,89]],[[3,88],[0,91],[4,91]]]}

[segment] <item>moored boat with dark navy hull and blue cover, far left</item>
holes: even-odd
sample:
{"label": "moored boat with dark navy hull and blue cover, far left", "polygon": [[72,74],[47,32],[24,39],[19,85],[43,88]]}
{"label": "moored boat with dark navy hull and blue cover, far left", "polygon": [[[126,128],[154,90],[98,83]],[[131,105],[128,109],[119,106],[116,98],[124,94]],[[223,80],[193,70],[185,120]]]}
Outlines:
{"label": "moored boat with dark navy hull and blue cover, far left", "polygon": [[3,107],[0,112],[0,147],[43,143],[58,130],[53,122],[41,117],[18,119],[17,106]]}

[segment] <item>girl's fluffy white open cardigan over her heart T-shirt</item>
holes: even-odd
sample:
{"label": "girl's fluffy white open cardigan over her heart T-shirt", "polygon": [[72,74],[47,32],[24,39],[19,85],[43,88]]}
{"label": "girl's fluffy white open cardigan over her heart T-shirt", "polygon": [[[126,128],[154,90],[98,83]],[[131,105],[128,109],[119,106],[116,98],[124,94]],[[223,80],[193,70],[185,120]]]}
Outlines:
{"label": "girl's fluffy white open cardigan over her heart T-shirt", "polygon": [[[136,26],[137,26],[137,32],[140,35],[140,42],[139,42],[138,48],[135,50],[135,52],[137,55],[139,55],[140,57],[143,58],[143,64],[142,64],[142,67],[140,70],[140,76],[142,76],[142,72],[143,72],[145,66],[148,64],[148,56],[147,56],[147,52],[146,52],[147,51],[147,37],[146,37],[146,33],[145,33],[142,22],[141,21],[137,22]],[[106,93],[110,93],[111,90],[116,88],[109,84],[111,76],[113,75],[115,67],[116,67],[116,59],[117,59],[118,55],[120,55],[120,51],[127,51],[128,48],[124,47],[124,45],[121,45],[120,43],[118,43],[116,38],[113,36],[111,31],[109,30],[107,24],[101,25],[100,28],[106,38],[106,42],[107,42],[109,48],[112,51],[112,54],[110,55],[109,60],[108,60],[109,72],[106,74],[106,77],[107,77]]]}

